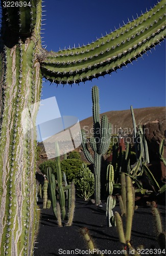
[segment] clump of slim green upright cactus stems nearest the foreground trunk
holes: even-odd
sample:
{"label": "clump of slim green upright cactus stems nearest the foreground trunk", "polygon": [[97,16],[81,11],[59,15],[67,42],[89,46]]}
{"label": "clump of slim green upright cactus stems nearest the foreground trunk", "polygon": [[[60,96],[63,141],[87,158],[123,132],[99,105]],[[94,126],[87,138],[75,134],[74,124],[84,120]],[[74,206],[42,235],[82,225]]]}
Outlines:
{"label": "clump of slim green upright cactus stems nearest the foreground trunk", "polygon": [[[57,156],[56,157],[57,183],[55,181],[54,174],[52,174],[51,168],[49,167],[47,170],[53,211],[54,211],[55,217],[58,220],[59,226],[61,226],[60,219],[64,221],[65,218],[67,217],[66,209],[65,209],[65,206],[66,206],[65,191],[68,190],[68,198],[67,198],[68,199],[68,223],[67,225],[72,225],[73,217],[74,217],[74,209],[75,209],[75,185],[74,183],[72,183],[70,185],[63,186],[62,173],[61,173],[61,167],[60,167],[59,146],[57,142],[55,142],[55,152]],[[57,202],[56,191],[58,193],[59,202]],[[60,210],[59,210],[59,206],[60,206]]]}

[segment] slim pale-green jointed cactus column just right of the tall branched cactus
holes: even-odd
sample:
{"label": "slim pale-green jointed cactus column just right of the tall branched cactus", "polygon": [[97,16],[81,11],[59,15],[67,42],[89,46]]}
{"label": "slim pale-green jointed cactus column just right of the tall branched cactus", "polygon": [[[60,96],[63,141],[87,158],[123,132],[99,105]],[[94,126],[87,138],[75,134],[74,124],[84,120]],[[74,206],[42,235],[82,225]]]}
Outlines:
{"label": "slim pale-green jointed cactus column just right of the tall branched cactus", "polygon": [[106,216],[107,216],[107,225],[109,227],[115,226],[115,219],[113,215],[112,209],[115,207],[116,200],[112,197],[113,193],[113,183],[114,183],[114,170],[113,166],[109,164],[107,166],[107,208],[106,208]]}

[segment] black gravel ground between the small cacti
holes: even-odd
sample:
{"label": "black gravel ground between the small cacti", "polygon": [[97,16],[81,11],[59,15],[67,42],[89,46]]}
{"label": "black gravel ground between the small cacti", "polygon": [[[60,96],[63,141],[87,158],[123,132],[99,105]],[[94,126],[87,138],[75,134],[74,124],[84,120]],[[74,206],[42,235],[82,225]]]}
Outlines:
{"label": "black gravel ground between the small cacti", "polygon": [[[88,228],[91,238],[96,248],[103,250],[106,255],[123,255],[123,245],[118,240],[116,227],[107,227],[106,203],[102,202],[102,207],[96,206],[91,201],[76,199],[76,209],[73,225],[70,227],[58,227],[52,207],[42,209],[42,200],[38,202],[41,207],[40,228],[35,244],[35,256],[48,255],[89,255],[87,245],[80,229]],[[165,206],[158,205],[163,227],[165,226]],[[120,207],[116,204],[113,211],[120,212]],[[123,217],[124,222],[124,217]],[[134,248],[144,245],[147,251],[150,248],[159,249],[155,237],[155,224],[151,207],[138,206],[134,212],[131,244]],[[73,251],[71,251],[73,250]],[[80,250],[80,251],[79,251]],[[146,251],[144,254],[147,254]],[[164,255],[164,254],[159,254]]]}

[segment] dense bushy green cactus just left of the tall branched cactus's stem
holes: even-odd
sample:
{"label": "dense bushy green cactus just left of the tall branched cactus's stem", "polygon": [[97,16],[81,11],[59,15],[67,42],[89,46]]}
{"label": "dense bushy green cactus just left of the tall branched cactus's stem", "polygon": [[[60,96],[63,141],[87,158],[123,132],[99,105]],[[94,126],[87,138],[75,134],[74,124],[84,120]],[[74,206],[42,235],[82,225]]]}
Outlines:
{"label": "dense bushy green cactus just left of the tall branched cactus's stem", "polygon": [[94,175],[86,163],[83,163],[79,174],[75,178],[77,195],[88,200],[94,193]]}

